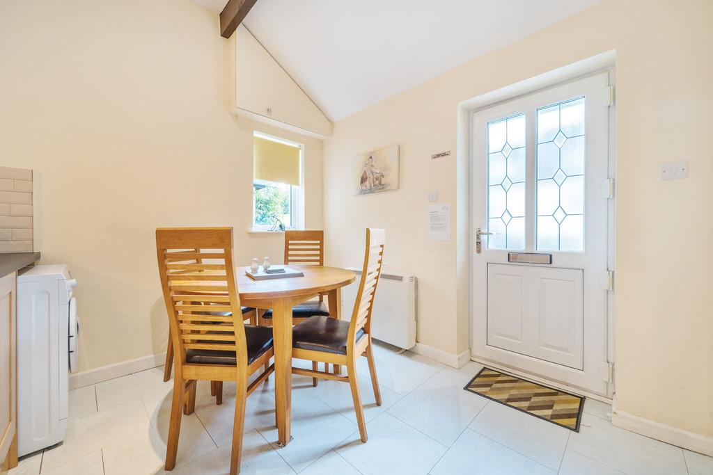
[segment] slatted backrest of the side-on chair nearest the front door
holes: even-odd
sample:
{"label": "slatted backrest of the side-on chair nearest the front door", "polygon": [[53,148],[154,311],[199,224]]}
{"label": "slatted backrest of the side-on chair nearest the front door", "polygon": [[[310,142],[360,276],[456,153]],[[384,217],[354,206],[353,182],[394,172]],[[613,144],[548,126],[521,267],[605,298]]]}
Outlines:
{"label": "slatted backrest of the side-on chair nearest the front door", "polygon": [[371,330],[371,310],[374,308],[376,286],[381,277],[381,262],[384,259],[384,229],[366,229],[366,250],[364,251],[364,267],[361,269],[359,290],[356,291],[352,320],[349,322],[349,337],[355,343],[356,332],[364,328],[366,333]]}

